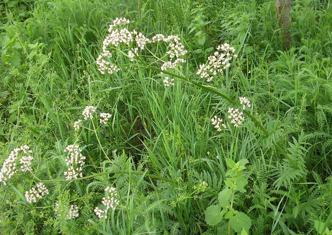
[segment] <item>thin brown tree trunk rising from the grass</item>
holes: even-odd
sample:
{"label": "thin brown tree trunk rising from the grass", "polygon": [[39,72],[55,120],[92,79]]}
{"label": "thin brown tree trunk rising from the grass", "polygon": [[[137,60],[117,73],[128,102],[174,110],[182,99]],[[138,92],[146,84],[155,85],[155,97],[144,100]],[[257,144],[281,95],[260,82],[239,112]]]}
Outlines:
{"label": "thin brown tree trunk rising from the grass", "polygon": [[[276,7],[276,14],[277,18],[279,19],[279,27],[284,28],[283,29],[283,36],[285,39],[285,46],[287,49],[290,48],[290,29],[285,27],[288,27],[291,25],[290,21],[290,6],[291,6],[292,0],[276,0],[275,7]],[[285,6],[285,7],[284,7]]]}

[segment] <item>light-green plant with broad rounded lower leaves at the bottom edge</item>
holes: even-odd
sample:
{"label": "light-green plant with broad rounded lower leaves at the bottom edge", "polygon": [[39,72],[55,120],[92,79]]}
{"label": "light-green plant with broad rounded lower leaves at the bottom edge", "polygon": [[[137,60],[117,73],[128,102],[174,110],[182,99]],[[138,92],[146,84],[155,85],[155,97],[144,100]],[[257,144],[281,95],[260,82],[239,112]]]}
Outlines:
{"label": "light-green plant with broad rounded lower leaves at the bottom edge", "polygon": [[[234,209],[234,195],[237,192],[245,193],[245,186],[248,184],[249,174],[245,171],[247,159],[241,159],[234,162],[230,158],[226,158],[226,164],[230,168],[226,172],[225,188],[218,194],[217,205],[211,205],[205,210],[205,220],[209,225],[226,225],[228,235],[231,230],[241,233],[242,230],[249,231],[251,227],[251,219],[244,212]],[[224,228],[224,229],[222,229]],[[221,230],[226,230],[225,226]],[[242,233],[241,233],[242,234]]]}

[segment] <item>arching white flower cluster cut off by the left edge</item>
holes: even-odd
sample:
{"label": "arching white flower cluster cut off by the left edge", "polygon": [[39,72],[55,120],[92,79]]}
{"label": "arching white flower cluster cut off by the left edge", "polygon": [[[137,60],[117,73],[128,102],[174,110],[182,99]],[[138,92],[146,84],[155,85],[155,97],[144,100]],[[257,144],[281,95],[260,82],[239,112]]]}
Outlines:
{"label": "arching white flower cluster cut off by the left edge", "polygon": [[29,146],[21,146],[19,148],[14,148],[13,151],[10,152],[7,159],[4,161],[1,171],[0,171],[0,183],[3,185],[6,185],[6,181],[9,180],[15,173],[19,171],[19,169],[16,168],[17,159],[19,152],[23,152],[23,156],[20,159],[20,169],[21,171],[32,171],[31,164],[33,157],[30,156],[30,153],[32,153],[32,150],[30,150]]}

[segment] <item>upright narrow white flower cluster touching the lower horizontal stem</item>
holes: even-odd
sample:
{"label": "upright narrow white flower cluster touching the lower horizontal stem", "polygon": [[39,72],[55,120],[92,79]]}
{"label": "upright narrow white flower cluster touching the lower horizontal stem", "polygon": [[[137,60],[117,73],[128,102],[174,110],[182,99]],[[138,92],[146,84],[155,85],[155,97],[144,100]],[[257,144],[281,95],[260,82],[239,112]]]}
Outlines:
{"label": "upright narrow white flower cluster touching the lower horizontal stem", "polygon": [[68,151],[68,156],[65,161],[67,166],[69,166],[68,170],[63,174],[66,175],[66,180],[77,179],[78,176],[82,177],[82,167],[85,164],[85,156],[81,154],[82,149],[78,145],[68,145],[64,150],[64,152]]}

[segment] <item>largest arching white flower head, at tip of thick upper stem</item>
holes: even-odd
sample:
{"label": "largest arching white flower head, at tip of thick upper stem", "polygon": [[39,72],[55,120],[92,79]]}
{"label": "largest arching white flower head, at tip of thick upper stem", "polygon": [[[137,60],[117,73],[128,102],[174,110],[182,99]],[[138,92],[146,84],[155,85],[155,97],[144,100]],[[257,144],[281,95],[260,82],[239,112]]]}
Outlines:
{"label": "largest arching white flower head, at tip of thick upper stem", "polygon": [[[117,47],[119,44],[123,43],[127,46],[130,46],[132,42],[136,42],[137,46],[133,46],[129,49],[127,56],[130,58],[130,61],[134,61],[135,55],[138,56],[138,49],[144,50],[147,43],[155,43],[159,41],[164,41],[168,43],[170,47],[169,51],[166,53],[169,55],[170,60],[163,64],[162,70],[168,68],[175,68],[179,62],[185,63],[186,60],[179,58],[184,56],[188,51],[185,50],[184,46],[180,42],[180,38],[177,35],[169,35],[165,37],[163,34],[156,34],[152,37],[152,40],[146,38],[141,32],[136,30],[129,31],[126,28],[121,28],[124,24],[129,24],[129,20],[125,18],[116,18],[109,27],[110,34],[106,36],[103,41],[103,52],[98,56],[96,62],[99,66],[99,71],[102,74],[105,74],[107,71],[109,74],[112,74],[114,71],[118,72],[119,68],[116,65],[112,65],[109,61],[104,58],[111,58],[112,54],[108,50],[109,46]],[[121,27],[118,27],[121,26]],[[172,59],[175,58],[173,62]],[[174,79],[169,79],[166,77],[164,80],[165,86],[173,86]]]}

